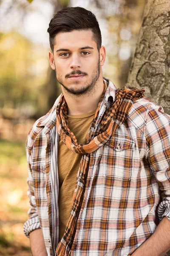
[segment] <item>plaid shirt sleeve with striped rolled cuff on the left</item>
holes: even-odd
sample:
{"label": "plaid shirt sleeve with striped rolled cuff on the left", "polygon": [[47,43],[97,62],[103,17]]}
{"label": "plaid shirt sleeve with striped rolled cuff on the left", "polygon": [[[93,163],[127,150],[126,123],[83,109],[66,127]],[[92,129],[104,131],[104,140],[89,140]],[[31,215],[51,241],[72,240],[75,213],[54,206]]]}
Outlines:
{"label": "plaid shirt sleeve with striped rolled cuff on the left", "polygon": [[[28,135],[29,136],[29,135]],[[29,153],[30,150],[28,149],[28,139],[26,143],[26,156],[27,156],[27,164],[28,164],[28,198],[30,199],[30,208],[28,210],[28,220],[24,223],[23,226],[23,232],[24,234],[29,237],[29,233],[31,233],[33,230],[36,230],[40,228],[40,221],[37,213],[37,207],[35,202],[35,196],[34,196],[34,183],[32,179],[32,173],[31,173],[31,154]]]}

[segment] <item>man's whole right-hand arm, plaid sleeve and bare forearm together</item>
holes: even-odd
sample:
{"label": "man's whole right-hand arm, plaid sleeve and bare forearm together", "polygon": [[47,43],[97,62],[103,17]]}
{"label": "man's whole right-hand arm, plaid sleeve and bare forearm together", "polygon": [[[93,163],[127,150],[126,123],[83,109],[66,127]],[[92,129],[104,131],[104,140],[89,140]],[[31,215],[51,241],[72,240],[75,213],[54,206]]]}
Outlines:
{"label": "man's whole right-hand arm, plaid sleeve and bare forearm together", "polygon": [[151,105],[146,122],[146,158],[159,184],[162,200],[158,207],[160,223],[155,232],[133,256],[162,256],[170,250],[170,116]]}

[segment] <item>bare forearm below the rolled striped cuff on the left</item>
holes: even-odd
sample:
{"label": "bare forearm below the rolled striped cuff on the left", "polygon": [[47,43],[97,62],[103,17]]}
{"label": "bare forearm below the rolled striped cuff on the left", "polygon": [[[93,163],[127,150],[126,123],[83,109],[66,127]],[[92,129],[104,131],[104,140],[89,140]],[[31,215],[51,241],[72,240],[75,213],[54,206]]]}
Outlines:
{"label": "bare forearm below the rolled striped cuff on the left", "polygon": [[33,256],[47,256],[42,230],[36,229],[29,234],[31,252]]}

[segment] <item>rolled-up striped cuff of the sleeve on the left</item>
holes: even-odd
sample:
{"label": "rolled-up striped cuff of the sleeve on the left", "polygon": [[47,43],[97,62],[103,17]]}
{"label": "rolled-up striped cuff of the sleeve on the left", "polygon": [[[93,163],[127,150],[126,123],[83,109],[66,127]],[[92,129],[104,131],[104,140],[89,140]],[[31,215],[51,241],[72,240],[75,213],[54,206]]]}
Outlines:
{"label": "rolled-up striped cuff of the sleeve on the left", "polygon": [[28,219],[28,221],[24,223],[23,232],[29,238],[29,233],[31,233],[33,230],[36,230],[38,228],[41,228],[41,227],[40,227],[39,218],[38,216],[36,216],[34,218]]}

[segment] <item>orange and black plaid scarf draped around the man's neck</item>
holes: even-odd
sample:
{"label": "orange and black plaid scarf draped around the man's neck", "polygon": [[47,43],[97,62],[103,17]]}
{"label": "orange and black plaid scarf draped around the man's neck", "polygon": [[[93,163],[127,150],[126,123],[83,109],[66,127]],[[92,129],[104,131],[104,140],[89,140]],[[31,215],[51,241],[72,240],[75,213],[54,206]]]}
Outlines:
{"label": "orange and black plaid scarf draped around the man's neck", "polygon": [[[119,125],[125,121],[133,102],[144,96],[144,90],[139,90],[135,87],[130,87],[130,89],[125,87],[121,90],[117,89],[115,101],[105,110],[103,116],[98,118],[99,108],[105,96],[105,90],[106,88],[104,88],[102,97],[99,101],[85,144],[78,144],[75,135],[68,128],[68,110],[63,95],[57,106],[57,130],[59,135],[70,150],[78,154],[83,154],[83,156],[80,162],[79,176],[77,177],[76,188],[74,191],[71,214],[68,218],[65,233],[57,246],[56,256],[68,256],[71,254],[71,246],[76,231],[77,218],[82,205],[91,152],[96,151],[99,147],[104,145],[111,136],[113,136]],[[99,129],[96,129],[96,127],[99,127]]]}

